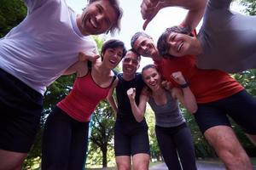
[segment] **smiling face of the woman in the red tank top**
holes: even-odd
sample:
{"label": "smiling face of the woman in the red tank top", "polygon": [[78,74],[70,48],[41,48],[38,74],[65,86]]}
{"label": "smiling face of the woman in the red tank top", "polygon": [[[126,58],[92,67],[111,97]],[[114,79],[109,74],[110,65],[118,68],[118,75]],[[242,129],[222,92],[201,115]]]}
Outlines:
{"label": "smiling face of the woman in the red tank top", "polygon": [[103,61],[108,65],[109,69],[113,69],[116,67],[123,57],[124,48],[117,47],[117,48],[107,48],[105,53],[103,54]]}

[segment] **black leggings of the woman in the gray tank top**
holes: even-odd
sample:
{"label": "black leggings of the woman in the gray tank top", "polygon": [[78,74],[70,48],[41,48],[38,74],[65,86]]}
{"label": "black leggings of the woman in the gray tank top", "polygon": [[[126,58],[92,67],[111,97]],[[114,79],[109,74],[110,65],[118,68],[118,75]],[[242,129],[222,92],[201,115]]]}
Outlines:
{"label": "black leggings of the woman in the gray tank top", "polygon": [[183,123],[177,127],[155,126],[160,150],[169,170],[195,170],[195,150],[189,127]]}

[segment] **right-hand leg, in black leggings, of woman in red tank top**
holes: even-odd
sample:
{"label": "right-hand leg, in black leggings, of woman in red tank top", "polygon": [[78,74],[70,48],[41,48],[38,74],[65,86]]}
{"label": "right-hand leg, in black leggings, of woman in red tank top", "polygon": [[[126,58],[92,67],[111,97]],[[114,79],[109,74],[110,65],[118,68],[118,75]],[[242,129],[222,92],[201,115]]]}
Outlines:
{"label": "right-hand leg, in black leggings, of woman in red tank top", "polygon": [[73,121],[68,169],[83,169],[88,145],[89,122]]}

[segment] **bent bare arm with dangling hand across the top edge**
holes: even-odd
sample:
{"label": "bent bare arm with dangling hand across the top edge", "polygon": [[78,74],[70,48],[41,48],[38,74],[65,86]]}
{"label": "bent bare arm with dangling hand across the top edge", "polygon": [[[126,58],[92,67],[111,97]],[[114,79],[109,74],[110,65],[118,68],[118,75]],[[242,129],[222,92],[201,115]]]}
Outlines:
{"label": "bent bare arm with dangling hand across the top edge", "polygon": [[154,19],[154,16],[158,14],[161,8],[166,7],[181,7],[188,9],[188,14],[183,20],[183,26],[189,27],[190,30],[194,30],[199,24],[204,10],[206,8],[207,0],[143,0],[141,4],[141,13],[143,20],[143,30],[146,29],[148,23]]}

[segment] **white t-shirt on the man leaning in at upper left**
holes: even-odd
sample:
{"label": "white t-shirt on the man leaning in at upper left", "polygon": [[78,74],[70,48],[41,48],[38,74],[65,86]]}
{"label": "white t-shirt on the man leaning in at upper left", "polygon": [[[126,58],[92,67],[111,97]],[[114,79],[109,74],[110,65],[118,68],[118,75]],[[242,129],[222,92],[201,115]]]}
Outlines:
{"label": "white t-shirt on the man leaning in at upper left", "polygon": [[0,39],[0,68],[44,94],[79,52],[95,51],[96,42],[81,34],[65,0],[25,1],[25,20]]}

